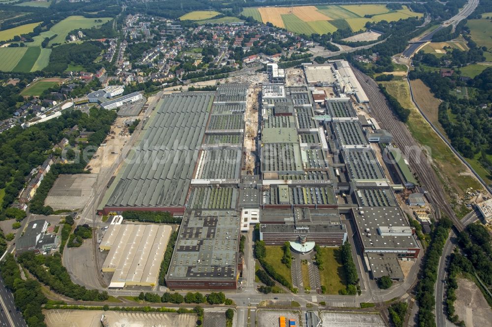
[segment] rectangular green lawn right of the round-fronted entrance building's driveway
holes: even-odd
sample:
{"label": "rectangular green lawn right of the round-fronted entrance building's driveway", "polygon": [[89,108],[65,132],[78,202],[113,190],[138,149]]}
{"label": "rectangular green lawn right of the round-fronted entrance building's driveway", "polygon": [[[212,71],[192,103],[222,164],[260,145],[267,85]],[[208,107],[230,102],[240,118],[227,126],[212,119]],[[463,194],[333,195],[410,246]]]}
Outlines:
{"label": "rectangular green lawn right of the round-fronted entrance building's driveway", "polygon": [[346,288],[346,277],[343,270],[340,249],[338,247],[322,247],[321,258],[323,270],[319,271],[321,285],[326,287],[326,294],[338,294]]}

